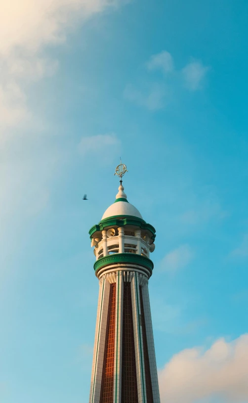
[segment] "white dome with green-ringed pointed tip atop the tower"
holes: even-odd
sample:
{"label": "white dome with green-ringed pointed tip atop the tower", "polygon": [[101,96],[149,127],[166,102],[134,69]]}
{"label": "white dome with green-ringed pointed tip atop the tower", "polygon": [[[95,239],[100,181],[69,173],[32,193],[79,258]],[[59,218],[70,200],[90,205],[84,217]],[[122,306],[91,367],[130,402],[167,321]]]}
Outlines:
{"label": "white dome with green-ringed pointed tip atop the tower", "polygon": [[116,201],[107,208],[104,215],[102,216],[102,220],[114,216],[133,216],[142,219],[142,216],[140,212],[136,209],[136,207],[134,207],[127,201],[122,184],[119,186],[119,192],[116,195]]}

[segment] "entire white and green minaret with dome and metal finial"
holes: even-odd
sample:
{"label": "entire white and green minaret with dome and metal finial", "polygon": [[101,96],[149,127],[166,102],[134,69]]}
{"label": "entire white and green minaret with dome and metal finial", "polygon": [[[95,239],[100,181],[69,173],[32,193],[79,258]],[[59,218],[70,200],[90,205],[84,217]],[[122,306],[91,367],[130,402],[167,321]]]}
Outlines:
{"label": "entire white and green minaret with dome and metal finial", "polygon": [[89,403],[160,403],[148,280],[155,228],[126,199],[116,201],[89,230],[99,280]]}

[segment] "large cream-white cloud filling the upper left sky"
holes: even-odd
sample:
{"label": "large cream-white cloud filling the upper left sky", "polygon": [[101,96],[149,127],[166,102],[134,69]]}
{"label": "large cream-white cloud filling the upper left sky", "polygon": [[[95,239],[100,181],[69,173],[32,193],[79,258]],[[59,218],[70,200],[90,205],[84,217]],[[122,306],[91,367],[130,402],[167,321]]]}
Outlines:
{"label": "large cream-white cloud filling the upper left sky", "polygon": [[24,239],[24,223],[47,205],[61,161],[59,146],[44,135],[45,119],[33,116],[29,102],[30,86],[58,68],[57,60],[45,55],[46,47],[63,43],[77,24],[121,1],[1,1],[0,239],[9,248],[18,228],[23,227]]}

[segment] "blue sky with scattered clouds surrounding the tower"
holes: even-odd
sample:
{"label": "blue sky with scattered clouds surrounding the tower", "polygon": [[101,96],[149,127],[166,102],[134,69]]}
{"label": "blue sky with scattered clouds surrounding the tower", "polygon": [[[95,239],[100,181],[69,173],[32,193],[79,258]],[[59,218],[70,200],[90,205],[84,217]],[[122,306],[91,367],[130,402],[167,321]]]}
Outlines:
{"label": "blue sky with scattered clouds surrounding the tower", "polygon": [[18,4],[0,24],[0,401],[88,400],[88,229],[121,156],[157,230],[162,403],[248,402],[247,1]]}

